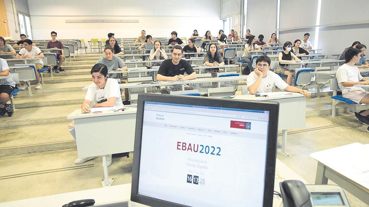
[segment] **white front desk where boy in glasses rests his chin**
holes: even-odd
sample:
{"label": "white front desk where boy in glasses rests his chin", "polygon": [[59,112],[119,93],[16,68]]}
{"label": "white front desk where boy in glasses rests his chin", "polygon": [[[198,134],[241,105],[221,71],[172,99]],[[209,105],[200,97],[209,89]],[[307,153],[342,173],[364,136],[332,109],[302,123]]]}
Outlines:
{"label": "white front desk where boy in glasses rests his chin", "polygon": [[[287,147],[287,129],[305,126],[306,98],[300,93],[270,92],[269,97],[256,97],[252,94],[237,95],[233,99],[247,101],[273,101],[279,103],[278,130],[282,130],[282,150],[280,154],[289,157]],[[292,95],[286,95],[292,94]]]}

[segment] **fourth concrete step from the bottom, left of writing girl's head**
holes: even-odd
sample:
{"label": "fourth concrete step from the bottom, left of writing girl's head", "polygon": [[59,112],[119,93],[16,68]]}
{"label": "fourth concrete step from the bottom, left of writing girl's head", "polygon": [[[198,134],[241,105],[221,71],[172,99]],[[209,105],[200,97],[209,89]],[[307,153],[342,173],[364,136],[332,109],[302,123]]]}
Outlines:
{"label": "fourth concrete step from the bottom, left of writing girl's head", "polygon": [[[66,91],[82,91],[82,88],[86,85],[91,84],[92,81],[80,81],[74,82],[73,84],[68,83],[55,83],[55,84],[44,84],[41,89],[35,90],[35,85],[31,85],[32,93],[34,94],[45,94],[45,93],[54,93],[54,92],[66,92]],[[14,97],[17,100],[18,95],[28,96],[28,90],[20,91]],[[15,101],[17,102],[17,101]]]}

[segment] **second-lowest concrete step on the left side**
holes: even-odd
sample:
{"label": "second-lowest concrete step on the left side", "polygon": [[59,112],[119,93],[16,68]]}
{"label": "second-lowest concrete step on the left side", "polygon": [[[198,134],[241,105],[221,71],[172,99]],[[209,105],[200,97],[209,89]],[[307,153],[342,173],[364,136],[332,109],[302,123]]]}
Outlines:
{"label": "second-lowest concrete step on the left side", "polygon": [[45,125],[45,130],[50,130],[47,128],[49,124],[69,123],[70,120],[67,120],[66,117],[80,107],[81,105],[77,104],[18,109],[11,117],[8,117],[7,114],[0,116],[0,129]]}

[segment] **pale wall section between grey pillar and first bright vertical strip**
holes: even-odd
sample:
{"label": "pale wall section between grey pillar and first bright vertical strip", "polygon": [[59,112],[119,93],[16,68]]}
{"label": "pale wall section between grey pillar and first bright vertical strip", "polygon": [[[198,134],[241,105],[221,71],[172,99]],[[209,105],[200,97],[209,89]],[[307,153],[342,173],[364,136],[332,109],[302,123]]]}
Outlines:
{"label": "pale wall section between grey pillar and first bright vertical strip", "polygon": [[272,33],[275,32],[276,11],[276,0],[247,0],[246,28],[250,29],[251,34],[255,35],[256,38],[262,34],[265,42],[268,41]]}

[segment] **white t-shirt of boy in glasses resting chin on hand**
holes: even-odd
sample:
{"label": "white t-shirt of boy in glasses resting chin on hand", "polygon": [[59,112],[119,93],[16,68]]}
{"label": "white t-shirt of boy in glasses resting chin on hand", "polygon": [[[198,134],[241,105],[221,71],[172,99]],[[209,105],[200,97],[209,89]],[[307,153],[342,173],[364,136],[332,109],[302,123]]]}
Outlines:
{"label": "white t-shirt of boy in glasses resting chin on hand", "polygon": [[[258,75],[255,74],[255,71],[252,71],[247,77],[246,84],[248,86],[254,84],[256,80],[258,80]],[[276,85],[280,90],[284,90],[287,88],[288,84],[284,82],[284,80],[275,74],[274,72],[268,70],[266,73],[266,77],[261,79],[261,83],[259,85],[257,93],[267,93],[272,92],[273,85]]]}

